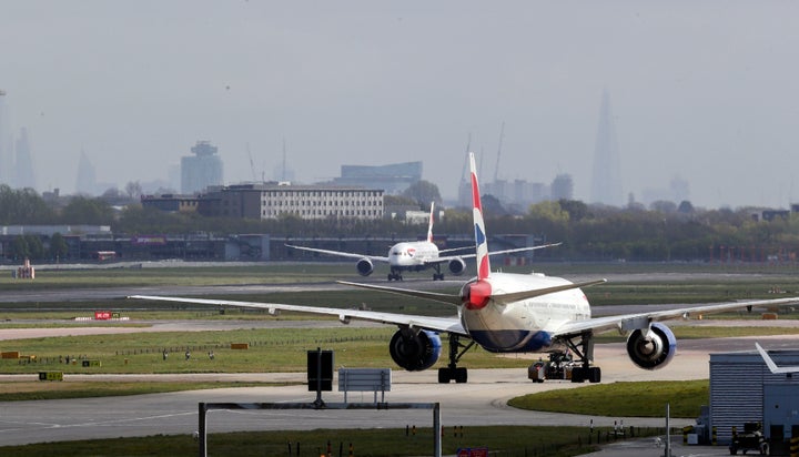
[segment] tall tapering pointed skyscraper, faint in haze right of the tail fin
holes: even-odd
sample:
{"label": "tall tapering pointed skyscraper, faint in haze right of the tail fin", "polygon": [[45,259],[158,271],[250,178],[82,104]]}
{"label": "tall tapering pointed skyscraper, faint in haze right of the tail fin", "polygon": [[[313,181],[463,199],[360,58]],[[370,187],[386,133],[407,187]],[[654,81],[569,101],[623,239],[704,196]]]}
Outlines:
{"label": "tall tapering pointed skyscraper, faint in haze right of the tail fin", "polygon": [[624,205],[616,126],[610,113],[610,100],[607,91],[603,92],[601,108],[599,109],[599,128],[594,151],[591,202],[614,206]]}

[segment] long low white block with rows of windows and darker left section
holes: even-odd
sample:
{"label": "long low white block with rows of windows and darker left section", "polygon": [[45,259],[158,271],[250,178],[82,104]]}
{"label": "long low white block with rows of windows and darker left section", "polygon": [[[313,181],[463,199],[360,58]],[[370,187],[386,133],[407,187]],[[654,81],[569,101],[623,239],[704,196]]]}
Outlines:
{"label": "long low white block with rows of windows and darker left section", "polygon": [[274,220],[383,219],[383,190],[331,185],[237,184],[212,186],[200,195],[204,216]]}

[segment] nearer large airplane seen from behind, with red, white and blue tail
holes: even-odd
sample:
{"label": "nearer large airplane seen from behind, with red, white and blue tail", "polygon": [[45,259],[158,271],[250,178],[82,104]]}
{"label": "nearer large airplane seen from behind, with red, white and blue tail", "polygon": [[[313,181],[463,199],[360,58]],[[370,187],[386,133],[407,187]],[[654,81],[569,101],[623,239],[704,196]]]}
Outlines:
{"label": "nearer large airplane seen from behind, with red, white and blue tail", "polygon": [[[644,369],[659,369],[671,362],[677,349],[677,339],[663,321],[687,318],[690,314],[737,308],[751,311],[754,306],[799,303],[799,297],[749,299],[591,317],[590,305],[581,287],[605,283],[604,278],[573,283],[538,273],[492,272],[473,153],[469,154],[469,162],[477,275],[467,281],[458,294],[338,282],[348,286],[444,303],[456,311],[456,316],[428,317],[277,303],[146,295],[131,298],[263,308],[272,315],[280,311],[332,315],[344,324],[352,319],[363,319],[396,325],[397,332],[388,343],[388,352],[400,367],[409,372],[424,370],[436,364],[442,355],[441,334],[445,334],[448,336],[449,360],[446,367],[438,368],[438,382],[442,384],[452,380],[467,382],[467,369],[457,364],[475,344],[493,353],[570,353],[575,363],[570,380],[599,383],[601,370],[594,365],[594,336],[610,331],[628,334],[626,347],[633,364]],[[468,343],[462,344],[461,339],[467,339]]]}

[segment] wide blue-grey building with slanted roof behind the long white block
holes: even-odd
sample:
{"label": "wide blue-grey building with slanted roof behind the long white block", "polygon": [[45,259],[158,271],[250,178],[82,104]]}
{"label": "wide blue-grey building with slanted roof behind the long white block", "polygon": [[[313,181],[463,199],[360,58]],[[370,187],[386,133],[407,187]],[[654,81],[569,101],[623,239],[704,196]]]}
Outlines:
{"label": "wide blue-grey building with slanted roof behind the long white block", "polygon": [[342,165],[341,177],[333,184],[382,189],[386,194],[403,193],[422,180],[422,162],[405,162],[390,165]]}

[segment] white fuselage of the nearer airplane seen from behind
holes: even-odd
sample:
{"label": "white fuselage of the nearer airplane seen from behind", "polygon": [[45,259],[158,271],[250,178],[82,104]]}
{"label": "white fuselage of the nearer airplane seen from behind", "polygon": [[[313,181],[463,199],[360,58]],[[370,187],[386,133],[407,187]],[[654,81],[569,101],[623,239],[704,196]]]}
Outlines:
{"label": "white fuselage of the nearer airplane seen from behind", "polygon": [[[490,285],[492,295],[570,284],[560,277],[536,274],[492,273],[483,281]],[[553,347],[549,329],[565,322],[590,318],[590,305],[583,291],[573,288],[510,303],[490,298],[479,308],[461,306],[459,315],[469,336],[486,351],[542,352]]]}

